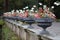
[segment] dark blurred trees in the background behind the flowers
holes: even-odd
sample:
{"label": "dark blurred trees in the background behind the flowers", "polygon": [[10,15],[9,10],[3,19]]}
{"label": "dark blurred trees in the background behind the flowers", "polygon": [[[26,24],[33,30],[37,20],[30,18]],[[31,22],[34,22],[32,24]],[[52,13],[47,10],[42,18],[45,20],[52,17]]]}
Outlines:
{"label": "dark blurred trees in the background behind the flowers", "polygon": [[53,9],[54,13],[57,18],[60,18],[60,5],[54,5],[54,2],[56,1],[60,0],[0,0],[0,14],[13,9],[22,9],[25,6],[29,6],[29,8],[31,8],[35,4],[39,7],[38,3],[41,2],[44,5],[46,4],[48,7],[55,6]]}

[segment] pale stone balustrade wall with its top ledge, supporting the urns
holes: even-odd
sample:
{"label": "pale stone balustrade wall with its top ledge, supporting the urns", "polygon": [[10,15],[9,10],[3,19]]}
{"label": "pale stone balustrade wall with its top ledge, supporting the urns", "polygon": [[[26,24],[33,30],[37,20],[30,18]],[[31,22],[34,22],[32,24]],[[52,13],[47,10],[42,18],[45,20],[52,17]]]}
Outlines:
{"label": "pale stone balustrade wall with its top ledge, supporting the urns", "polygon": [[6,25],[17,34],[21,40],[53,40],[53,37],[41,35],[41,28],[34,25],[34,28],[28,28],[28,24],[21,24],[20,21],[5,19]]}

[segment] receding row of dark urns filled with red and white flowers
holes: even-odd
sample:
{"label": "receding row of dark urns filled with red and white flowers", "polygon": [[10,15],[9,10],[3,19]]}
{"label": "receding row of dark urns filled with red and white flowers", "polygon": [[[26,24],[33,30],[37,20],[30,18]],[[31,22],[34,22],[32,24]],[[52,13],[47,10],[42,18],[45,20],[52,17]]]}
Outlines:
{"label": "receding row of dark urns filled with red and white flowers", "polygon": [[[35,7],[36,6],[34,5],[34,9]],[[13,10],[11,12],[4,13],[4,18],[18,20],[23,23],[25,22],[30,25],[29,28],[33,28],[31,25],[33,23],[37,23],[39,27],[44,29],[41,34],[46,34],[46,28],[52,25],[52,22],[56,19],[56,16],[49,11],[47,7],[45,9],[41,7],[38,10],[34,9]]]}

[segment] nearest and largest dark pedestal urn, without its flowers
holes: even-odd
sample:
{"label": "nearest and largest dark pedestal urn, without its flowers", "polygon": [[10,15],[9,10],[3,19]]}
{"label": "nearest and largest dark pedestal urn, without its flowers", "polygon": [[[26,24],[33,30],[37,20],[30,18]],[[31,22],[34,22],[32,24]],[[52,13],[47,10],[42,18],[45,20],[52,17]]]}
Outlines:
{"label": "nearest and largest dark pedestal urn, without its flowers", "polygon": [[53,19],[51,19],[51,18],[39,18],[39,19],[35,19],[35,21],[37,22],[37,25],[39,27],[43,28],[43,31],[40,34],[49,34],[49,32],[46,31],[46,28],[48,28],[52,25]]}

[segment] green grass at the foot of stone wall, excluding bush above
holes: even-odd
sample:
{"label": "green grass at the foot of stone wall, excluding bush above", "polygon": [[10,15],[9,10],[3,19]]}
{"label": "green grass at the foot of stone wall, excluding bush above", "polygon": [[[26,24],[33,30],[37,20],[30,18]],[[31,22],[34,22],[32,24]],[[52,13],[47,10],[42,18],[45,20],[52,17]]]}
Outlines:
{"label": "green grass at the foot of stone wall, excluding bush above", "polygon": [[20,38],[6,26],[3,27],[2,31],[3,31],[3,40],[20,40]]}

